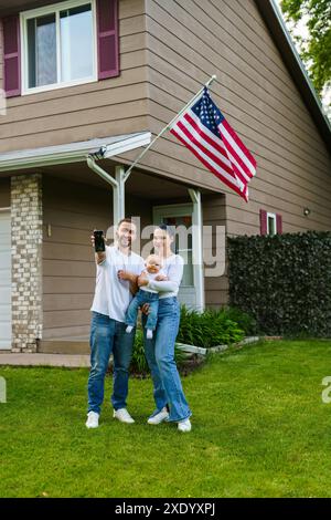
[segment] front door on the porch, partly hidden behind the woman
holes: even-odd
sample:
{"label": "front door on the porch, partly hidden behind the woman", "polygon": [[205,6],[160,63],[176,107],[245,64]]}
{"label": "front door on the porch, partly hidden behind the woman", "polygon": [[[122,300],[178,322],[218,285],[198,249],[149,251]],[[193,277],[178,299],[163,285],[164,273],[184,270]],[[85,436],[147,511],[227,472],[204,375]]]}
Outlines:
{"label": "front door on the porch, partly hidden behind the woman", "polygon": [[[186,229],[192,226],[193,205],[169,205],[153,207],[153,223],[167,223],[168,226],[184,226]],[[186,243],[182,245],[179,236],[175,236],[175,251],[184,259],[184,273],[179,290],[179,301],[189,309],[197,306],[196,287],[194,283],[194,269],[192,264],[193,241],[192,235],[188,236]]]}

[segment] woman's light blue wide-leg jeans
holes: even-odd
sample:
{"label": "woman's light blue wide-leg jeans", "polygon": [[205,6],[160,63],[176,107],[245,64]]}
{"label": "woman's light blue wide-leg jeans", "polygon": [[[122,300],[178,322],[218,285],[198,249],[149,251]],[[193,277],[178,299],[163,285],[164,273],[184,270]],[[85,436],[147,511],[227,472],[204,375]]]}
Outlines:
{"label": "woman's light blue wide-leg jeans", "polygon": [[[142,323],[147,321],[142,314]],[[158,325],[151,340],[145,334],[145,354],[153,382],[157,412],[169,406],[169,420],[183,420],[192,415],[185,399],[174,361],[174,342],[180,324],[180,306],[175,297],[160,298]],[[154,414],[153,414],[154,415]]]}

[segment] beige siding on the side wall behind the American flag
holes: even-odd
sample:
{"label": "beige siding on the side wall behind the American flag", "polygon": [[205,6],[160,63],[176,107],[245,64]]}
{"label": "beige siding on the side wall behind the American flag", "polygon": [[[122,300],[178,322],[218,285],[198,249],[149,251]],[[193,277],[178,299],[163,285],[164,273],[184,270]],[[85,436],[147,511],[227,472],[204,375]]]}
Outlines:
{"label": "beige siding on the side wall behind the American flag", "polygon": [[[167,133],[142,159],[162,175],[226,195],[229,233],[331,228],[331,160],[254,1],[147,0],[150,129],[158,133],[212,74],[212,95],[258,163],[249,204]],[[127,154],[125,157],[134,157]],[[303,207],[311,209],[303,217]]]}

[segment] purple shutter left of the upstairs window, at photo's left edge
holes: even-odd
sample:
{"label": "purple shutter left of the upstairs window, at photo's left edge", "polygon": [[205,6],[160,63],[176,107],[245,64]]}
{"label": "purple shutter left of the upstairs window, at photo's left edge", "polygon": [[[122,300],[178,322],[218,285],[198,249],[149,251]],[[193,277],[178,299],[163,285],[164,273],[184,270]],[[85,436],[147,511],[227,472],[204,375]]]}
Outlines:
{"label": "purple shutter left of the upstairs window, at photo's left edge", "polygon": [[18,14],[2,19],[4,92],[7,97],[21,95],[20,18]]}

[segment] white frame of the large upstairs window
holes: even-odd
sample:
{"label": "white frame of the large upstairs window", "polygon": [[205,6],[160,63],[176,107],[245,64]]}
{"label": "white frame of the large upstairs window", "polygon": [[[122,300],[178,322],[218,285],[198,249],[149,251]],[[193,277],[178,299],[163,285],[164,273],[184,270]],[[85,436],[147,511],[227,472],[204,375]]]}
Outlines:
{"label": "white frame of the large upstairs window", "polygon": [[[57,59],[57,81],[61,73],[61,40],[60,40],[60,11],[65,9],[72,9],[75,7],[90,3],[92,6],[92,18],[93,18],[93,75],[90,77],[84,77],[82,80],[73,80],[70,82],[57,82],[50,85],[35,86],[29,89],[29,66],[28,66],[28,20],[31,18],[43,17],[46,14],[55,13],[56,18],[56,59]],[[96,22],[96,0],[68,0],[66,2],[57,2],[52,6],[43,8],[32,9],[20,13],[20,32],[21,32],[21,70],[22,70],[22,95],[36,94],[39,92],[49,92],[57,89],[65,89],[67,86],[83,85],[85,83],[93,83],[98,81],[98,66],[97,66],[97,22]]]}

